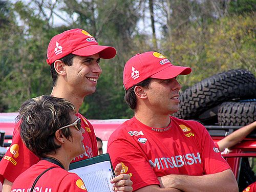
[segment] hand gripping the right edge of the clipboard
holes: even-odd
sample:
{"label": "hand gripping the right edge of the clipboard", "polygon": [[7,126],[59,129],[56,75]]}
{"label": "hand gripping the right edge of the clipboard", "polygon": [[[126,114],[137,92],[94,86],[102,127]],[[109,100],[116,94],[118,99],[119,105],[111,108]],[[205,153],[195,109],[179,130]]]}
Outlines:
{"label": "hand gripping the right edge of the clipboard", "polygon": [[116,177],[113,178],[110,182],[114,185],[115,191],[132,191],[133,182],[130,180],[130,176],[127,174],[121,174],[122,165],[118,163],[115,168]]}

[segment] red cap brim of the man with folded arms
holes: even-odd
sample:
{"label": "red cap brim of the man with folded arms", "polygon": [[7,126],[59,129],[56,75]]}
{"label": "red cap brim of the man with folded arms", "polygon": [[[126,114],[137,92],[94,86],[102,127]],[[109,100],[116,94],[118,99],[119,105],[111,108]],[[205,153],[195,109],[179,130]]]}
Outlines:
{"label": "red cap brim of the man with folded arms", "polygon": [[177,77],[178,75],[188,75],[191,73],[191,68],[189,67],[182,67],[182,66],[169,66],[162,71],[159,71],[158,73],[151,76],[151,78],[156,79],[172,79],[174,77]]}

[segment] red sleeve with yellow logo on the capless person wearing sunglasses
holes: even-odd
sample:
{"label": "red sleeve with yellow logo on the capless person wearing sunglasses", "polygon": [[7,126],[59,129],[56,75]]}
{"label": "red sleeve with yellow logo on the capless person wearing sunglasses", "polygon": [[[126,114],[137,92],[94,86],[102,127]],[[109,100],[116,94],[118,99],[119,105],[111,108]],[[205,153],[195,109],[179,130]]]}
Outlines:
{"label": "red sleeve with yellow logo on the capless person wearing sunglasses", "polygon": [[57,191],[87,192],[87,188],[80,177],[74,173],[70,173],[62,179]]}

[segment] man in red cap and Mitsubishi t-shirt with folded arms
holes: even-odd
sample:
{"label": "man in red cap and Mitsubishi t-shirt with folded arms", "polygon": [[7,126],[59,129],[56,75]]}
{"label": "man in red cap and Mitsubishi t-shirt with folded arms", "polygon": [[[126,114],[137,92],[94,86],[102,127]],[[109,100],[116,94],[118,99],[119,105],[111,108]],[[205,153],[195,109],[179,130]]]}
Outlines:
{"label": "man in red cap and Mitsubishi t-shirt with folded arms", "polygon": [[205,127],[169,115],[179,110],[176,77],[190,72],[152,51],[124,66],[125,101],[135,115],[113,132],[108,153],[131,176],[135,191],[238,191]]}

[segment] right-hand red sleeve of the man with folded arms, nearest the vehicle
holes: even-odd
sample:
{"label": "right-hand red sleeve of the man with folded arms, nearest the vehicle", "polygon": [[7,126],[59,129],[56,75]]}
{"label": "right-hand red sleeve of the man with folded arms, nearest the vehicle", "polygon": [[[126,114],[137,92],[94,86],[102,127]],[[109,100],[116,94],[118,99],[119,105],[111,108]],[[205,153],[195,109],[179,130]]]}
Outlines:
{"label": "right-hand red sleeve of the man with folded arms, nearest the vehicle", "polygon": [[205,127],[200,123],[197,125],[202,134],[200,144],[205,174],[215,174],[231,169]]}

